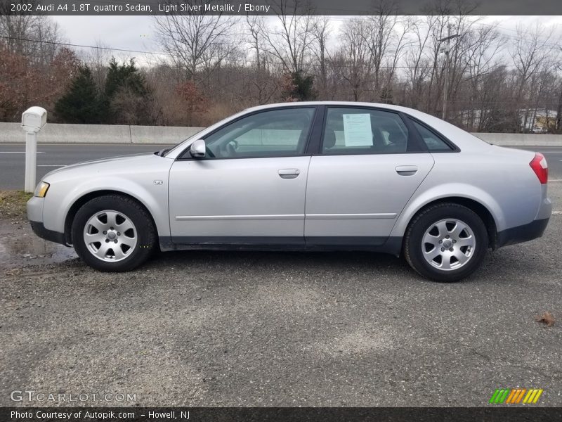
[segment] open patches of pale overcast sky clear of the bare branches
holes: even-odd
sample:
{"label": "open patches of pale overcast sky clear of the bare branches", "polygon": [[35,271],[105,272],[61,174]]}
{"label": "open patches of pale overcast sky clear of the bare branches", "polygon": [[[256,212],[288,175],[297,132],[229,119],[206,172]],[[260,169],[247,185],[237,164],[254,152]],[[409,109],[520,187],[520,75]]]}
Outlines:
{"label": "open patches of pale overcast sky clear of the bare branches", "polygon": [[[350,17],[334,17],[334,29],[348,18]],[[67,42],[72,44],[95,45],[96,41],[100,41],[115,49],[161,51],[155,41],[150,16],[53,16],[53,19],[62,27]],[[270,16],[268,19],[275,20],[276,17]],[[485,16],[482,22],[498,23],[498,31],[511,37],[520,23],[555,25],[558,37],[562,33],[562,16]],[[120,53],[116,56],[139,55]]]}

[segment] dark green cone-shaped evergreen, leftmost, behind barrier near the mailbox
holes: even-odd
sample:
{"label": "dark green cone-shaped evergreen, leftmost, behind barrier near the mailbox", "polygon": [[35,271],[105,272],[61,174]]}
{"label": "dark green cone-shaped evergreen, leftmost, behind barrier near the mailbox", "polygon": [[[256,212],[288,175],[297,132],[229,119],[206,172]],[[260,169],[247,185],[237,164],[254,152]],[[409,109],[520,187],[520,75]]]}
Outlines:
{"label": "dark green cone-shaped evergreen, leftmost, behind barrier near the mailbox", "polygon": [[65,123],[100,123],[103,106],[88,66],[80,66],[67,92],[55,103],[55,113]]}

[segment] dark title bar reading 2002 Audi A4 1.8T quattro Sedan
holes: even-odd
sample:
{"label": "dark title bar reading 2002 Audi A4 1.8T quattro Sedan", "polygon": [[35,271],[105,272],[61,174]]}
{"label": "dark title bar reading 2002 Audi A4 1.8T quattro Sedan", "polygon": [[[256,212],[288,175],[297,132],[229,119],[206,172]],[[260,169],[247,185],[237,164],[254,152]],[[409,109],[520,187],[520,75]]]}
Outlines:
{"label": "dark title bar reading 2002 Audi A4 1.8T quattro Sedan", "polygon": [[560,15],[560,0],[1,0],[0,15]]}

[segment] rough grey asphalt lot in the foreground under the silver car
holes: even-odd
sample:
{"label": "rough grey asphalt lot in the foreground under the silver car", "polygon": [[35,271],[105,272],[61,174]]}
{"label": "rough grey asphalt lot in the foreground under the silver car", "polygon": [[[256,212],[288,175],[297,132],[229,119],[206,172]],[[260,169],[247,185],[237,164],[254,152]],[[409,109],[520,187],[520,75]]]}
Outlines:
{"label": "rough grey asphalt lot in the foreground under the silver car", "polygon": [[0,406],[497,407],[497,389],[540,388],[508,406],[561,407],[562,181],[549,191],[542,238],[452,284],[367,252],[166,252],[100,273],[0,220]]}

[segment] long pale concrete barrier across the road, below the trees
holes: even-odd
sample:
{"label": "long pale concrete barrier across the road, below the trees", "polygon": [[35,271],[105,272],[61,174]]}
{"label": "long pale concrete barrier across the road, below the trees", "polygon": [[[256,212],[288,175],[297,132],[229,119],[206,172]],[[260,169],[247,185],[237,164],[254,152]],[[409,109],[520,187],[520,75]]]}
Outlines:
{"label": "long pale concrete barrier across the road, below the trees", "polygon": [[[127,126],[120,124],[47,123],[37,135],[38,143],[163,143],[188,139],[202,127]],[[562,146],[562,135],[474,133],[501,146]],[[20,123],[0,122],[0,143],[23,143]]]}

